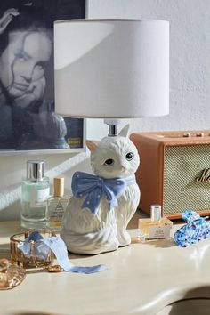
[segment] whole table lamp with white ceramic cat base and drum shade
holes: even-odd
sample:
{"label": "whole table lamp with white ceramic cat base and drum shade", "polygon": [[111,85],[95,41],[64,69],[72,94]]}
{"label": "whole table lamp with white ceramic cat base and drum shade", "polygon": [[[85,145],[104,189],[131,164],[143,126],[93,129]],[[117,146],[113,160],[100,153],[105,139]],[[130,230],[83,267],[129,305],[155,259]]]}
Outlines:
{"label": "whole table lamp with white ceramic cat base and drum shade", "polygon": [[69,251],[99,254],[126,246],[140,198],[137,149],[120,118],[158,117],[169,107],[169,23],[58,20],[54,23],[55,111],[104,118],[109,135],[86,141],[93,172],[76,172],[61,237]]}

